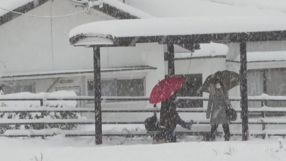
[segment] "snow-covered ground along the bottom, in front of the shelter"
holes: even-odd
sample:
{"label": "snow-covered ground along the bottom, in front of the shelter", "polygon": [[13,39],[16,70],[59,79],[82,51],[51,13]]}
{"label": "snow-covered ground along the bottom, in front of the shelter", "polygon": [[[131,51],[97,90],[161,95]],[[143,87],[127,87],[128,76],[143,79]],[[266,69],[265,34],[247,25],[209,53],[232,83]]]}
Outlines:
{"label": "snow-covered ground along the bottom, in front of the shelter", "polygon": [[[89,161],[89,160],[251,160],[271,161],[284,160],[285,147],[279,148],[278,141],[286,140],[271,137],[262,140],[250,138],[240,141],[240,137],[232,137],[232,141],[224,142],[217,138],[216,142],[201,142],[198,137],[178,139],[178,143],[152,144],[150,138],[126,139],[121,137],[103,138],[102,145],[95,145],[94,137],[67,138],[54,136],[41,138],[0,138],[1,160],[41,160],[44,161]],[[36,158],[35,158],[36,157]]]}

